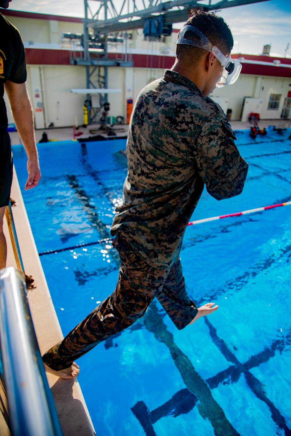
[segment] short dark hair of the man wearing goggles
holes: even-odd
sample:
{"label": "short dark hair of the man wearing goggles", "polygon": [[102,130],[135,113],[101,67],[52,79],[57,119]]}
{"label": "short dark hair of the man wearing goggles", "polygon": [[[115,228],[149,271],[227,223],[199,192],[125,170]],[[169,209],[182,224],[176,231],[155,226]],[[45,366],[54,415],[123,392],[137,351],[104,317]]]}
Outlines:
{"label": "short dark hair of the man wearing goggles", "polygon": [[[225,55],[229,55],[233,48],[233,35],[223,20],[213,12],[204,12],[202,10],[191,10],[191,16],[188,18],[187,25],[197,27],[209,41],[219,48]],[[179,34],[178,34],[179,36]],[[198,35],[191,31],[185,32],[185,38],[197,41]],[[196,64],[197,61],[205,54],[205,50],[199,47],[193,47],[187,44],[176,45],[176,56],[178,60],[183,60],[187,64]]]}

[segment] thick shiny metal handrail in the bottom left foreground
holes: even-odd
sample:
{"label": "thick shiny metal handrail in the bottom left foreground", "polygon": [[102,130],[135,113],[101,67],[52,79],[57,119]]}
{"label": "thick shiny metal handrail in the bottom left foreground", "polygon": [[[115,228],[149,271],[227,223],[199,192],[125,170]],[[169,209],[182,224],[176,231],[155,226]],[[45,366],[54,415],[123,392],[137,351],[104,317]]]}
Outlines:
{"label": "thick shiny metal handrail in the bottom left foreground", "polygon": [[24,276],[0,270],[0,337],[13,436],[63,436],[27,302]]}

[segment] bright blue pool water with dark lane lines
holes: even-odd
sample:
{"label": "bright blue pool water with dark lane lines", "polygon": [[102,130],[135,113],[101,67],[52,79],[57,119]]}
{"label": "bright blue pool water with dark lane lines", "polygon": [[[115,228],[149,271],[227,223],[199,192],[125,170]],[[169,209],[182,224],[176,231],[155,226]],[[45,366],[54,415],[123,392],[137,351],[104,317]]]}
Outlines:
{"label": "bright blue pool water with dark lane lines", "polygon": [[[250,164],[243,194],[216,201],[204,191],[192,220],[290,201],[289,134],[250,143],[238,133]],[[14,147],[38,252],[109,236],[125,145],[40,144],[41,183],[27,192],[25,153]],[[41,256],[64,334],[115,289],[108,247]],[[79,359],[97,435],[290,435],[291,206],[188,227],[181,261],[192,300],[219,310],[178,331],[154,301],[133,327]]]}

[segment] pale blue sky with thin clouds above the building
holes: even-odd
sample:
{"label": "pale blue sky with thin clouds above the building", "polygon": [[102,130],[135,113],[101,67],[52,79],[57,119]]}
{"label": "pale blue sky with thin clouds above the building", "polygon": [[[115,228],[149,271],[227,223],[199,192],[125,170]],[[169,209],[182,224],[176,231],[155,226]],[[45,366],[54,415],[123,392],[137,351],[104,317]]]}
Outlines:
{"label": "pale blue sky with thin clouds above the building", "polygon": [[[117,5],[121,1],[113,0]],[[89,3],[96,10],[99,2]],[[208,0],[201,3],[208,3]],[[10,9],[71,17],[84,16],[82,0],[12,0]],[[291,0],[270,0],[230,7],[218,10],[217,14],[224,18],[233,33],[233,53],[261,54],[264,44],[270,44],[270,55],[284,57],[285,48],[290,43],[287,57],[291,58]],[[181,28],[182,24],[175,23],[173,27]]]}

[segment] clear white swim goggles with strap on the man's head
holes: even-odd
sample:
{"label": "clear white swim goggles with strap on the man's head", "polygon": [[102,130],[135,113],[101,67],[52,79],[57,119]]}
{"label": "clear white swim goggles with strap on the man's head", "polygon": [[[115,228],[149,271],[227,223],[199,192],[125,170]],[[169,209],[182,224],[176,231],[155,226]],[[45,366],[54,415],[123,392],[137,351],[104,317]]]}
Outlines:
{"label": "clear white swim goggles with strap on the man's head", "polygon": [[[191,39],[187,39],[184,37],[185,32],[191,31],[199,36],[199,41],[192,41]],[[226,56],[213,45],[209,39],[199,31],[196,27],[185,25],[182,27],[177,44],[187,44],[193,45],[194,47],[204,48],[204,50],[210,51],[210,53],[214,54],[216,59],[219,60],[221,65],[223,66],[223,72],[219,80],[216,82],[217,88],[221,88],[222,86],[232,85],[236,79],[240,75],[240,71],[242,69],[242,65],[238,59],[232,59],[230,56],[226,58]]]}

